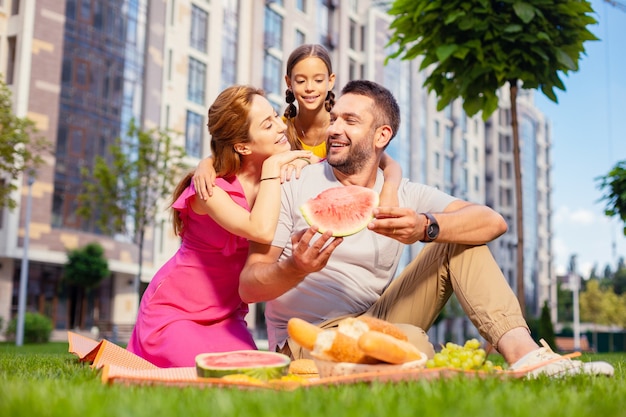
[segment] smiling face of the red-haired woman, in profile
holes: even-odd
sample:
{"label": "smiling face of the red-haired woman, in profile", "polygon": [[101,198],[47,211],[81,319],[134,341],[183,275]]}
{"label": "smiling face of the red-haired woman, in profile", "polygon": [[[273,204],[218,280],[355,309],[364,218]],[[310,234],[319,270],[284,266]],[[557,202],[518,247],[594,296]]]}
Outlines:
{"label": "smiling face of the red-haired woman, in profile", "polygon": [[250,141],[239,145],[244,145],[250,154],[267,158],[291,149],[285,136],[287,126],[265,97],[254,96],[248,118],[250,119],[248,132]]}

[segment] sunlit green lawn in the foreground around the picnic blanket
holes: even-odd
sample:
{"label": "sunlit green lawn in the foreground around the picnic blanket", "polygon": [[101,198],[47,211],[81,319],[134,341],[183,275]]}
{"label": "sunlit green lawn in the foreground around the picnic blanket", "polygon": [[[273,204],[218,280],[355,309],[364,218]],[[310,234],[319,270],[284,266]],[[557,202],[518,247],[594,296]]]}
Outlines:
{"label": "sunlit green lawn in the foreground around the picnic blanket", "polygon": [[67,343],[0,343],[0,416],[568,416],[626,415],[626,354],[606,360],[613,378],[534,381],[455,377],[295,391],[104,385]]}

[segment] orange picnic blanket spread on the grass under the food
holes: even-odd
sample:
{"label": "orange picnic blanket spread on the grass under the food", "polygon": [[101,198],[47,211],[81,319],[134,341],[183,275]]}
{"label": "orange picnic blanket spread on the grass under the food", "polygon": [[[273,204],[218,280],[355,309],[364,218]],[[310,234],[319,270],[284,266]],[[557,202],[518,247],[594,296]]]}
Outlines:
{"label": "orange picnic blanket spread on the grass under the food", "polygon": [[[69,352],[81,362],[88,362],[95,370],[101,370],[105,384],[126,385],[172,385],[202,387],[236,387],[246,389],[292,390],[319,385],[354,384],[362,382],[402,382],[430,380],[463,374],[469,377],[522,378],[528,372],[551,361],[517,371],[498,370],[495,372],[462,371],[454,368],[413,369],[390,372],[367,372],[353,375],[332,376],[311,379],[285,379],[269,382],[233,381],[222,378],[198,377],[195,367],[159,368],[134,353],[106,339],[90,339],[78,333],[67,332]],[[565,357],[579,356],[574,352]],[[558,360],[558,359],[556,359]],[[554,361],[554,360],[552,360]]]}

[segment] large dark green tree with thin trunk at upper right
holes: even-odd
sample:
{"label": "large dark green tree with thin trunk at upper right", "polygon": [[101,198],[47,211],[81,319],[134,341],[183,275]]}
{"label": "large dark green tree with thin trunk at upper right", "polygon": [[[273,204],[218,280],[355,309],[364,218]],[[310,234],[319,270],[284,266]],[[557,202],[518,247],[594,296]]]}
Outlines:
{"label": "large dark green tree with thin trunk at upper right", "polygon": [[472,116],[487,120],[498,108],[498,90],[508,85],[516,187],[517,295],[525,311],[523,213],[518,88],[540,89],[557,102],[565,90],[559,73],[578,70],[587,29],[596,23],[587,1],[579,0],[396,0],[389,14],[397,50],[388,59],[423,57],[424,86],[438,96],[437,108],[462,98]]}

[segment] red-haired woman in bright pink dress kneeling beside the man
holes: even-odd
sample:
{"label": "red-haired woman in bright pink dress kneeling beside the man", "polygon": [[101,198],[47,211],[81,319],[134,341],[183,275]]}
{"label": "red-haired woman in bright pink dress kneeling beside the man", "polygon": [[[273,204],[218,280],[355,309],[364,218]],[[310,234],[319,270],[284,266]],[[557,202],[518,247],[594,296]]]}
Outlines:
{"label": "red-haired woman in bright pink dress kneeling beside the man", "polygon": [[213,197],[198,198],[192,174],[176,188],[181,246],[150,282],[128,345],[159,367],[193,366],[203,352],[256,349],[238,293],[248,240],[271,242],[285,167],[311,155],[290,150],[284,122],[252,87],[224,90],[209,109],[208,128],[218,176]]}

